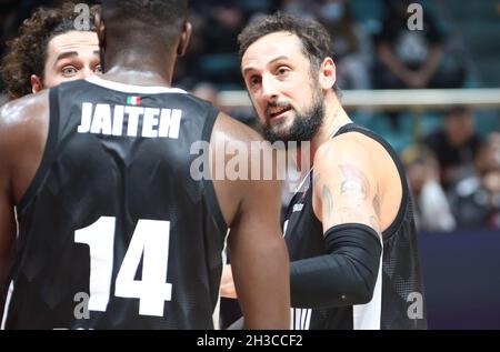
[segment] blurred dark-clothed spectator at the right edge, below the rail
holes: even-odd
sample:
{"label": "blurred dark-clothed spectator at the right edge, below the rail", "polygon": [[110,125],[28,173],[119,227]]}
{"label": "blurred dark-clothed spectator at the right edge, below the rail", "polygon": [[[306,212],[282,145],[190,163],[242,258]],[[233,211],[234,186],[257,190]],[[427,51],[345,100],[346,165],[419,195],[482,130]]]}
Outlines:
{"label": "blurred dark-clothed spectator at the right edge, below the rail", "polygon": [[481,144],[476,174],[452,188],[450,202],[460,228],[500,229],[500,133]]}

